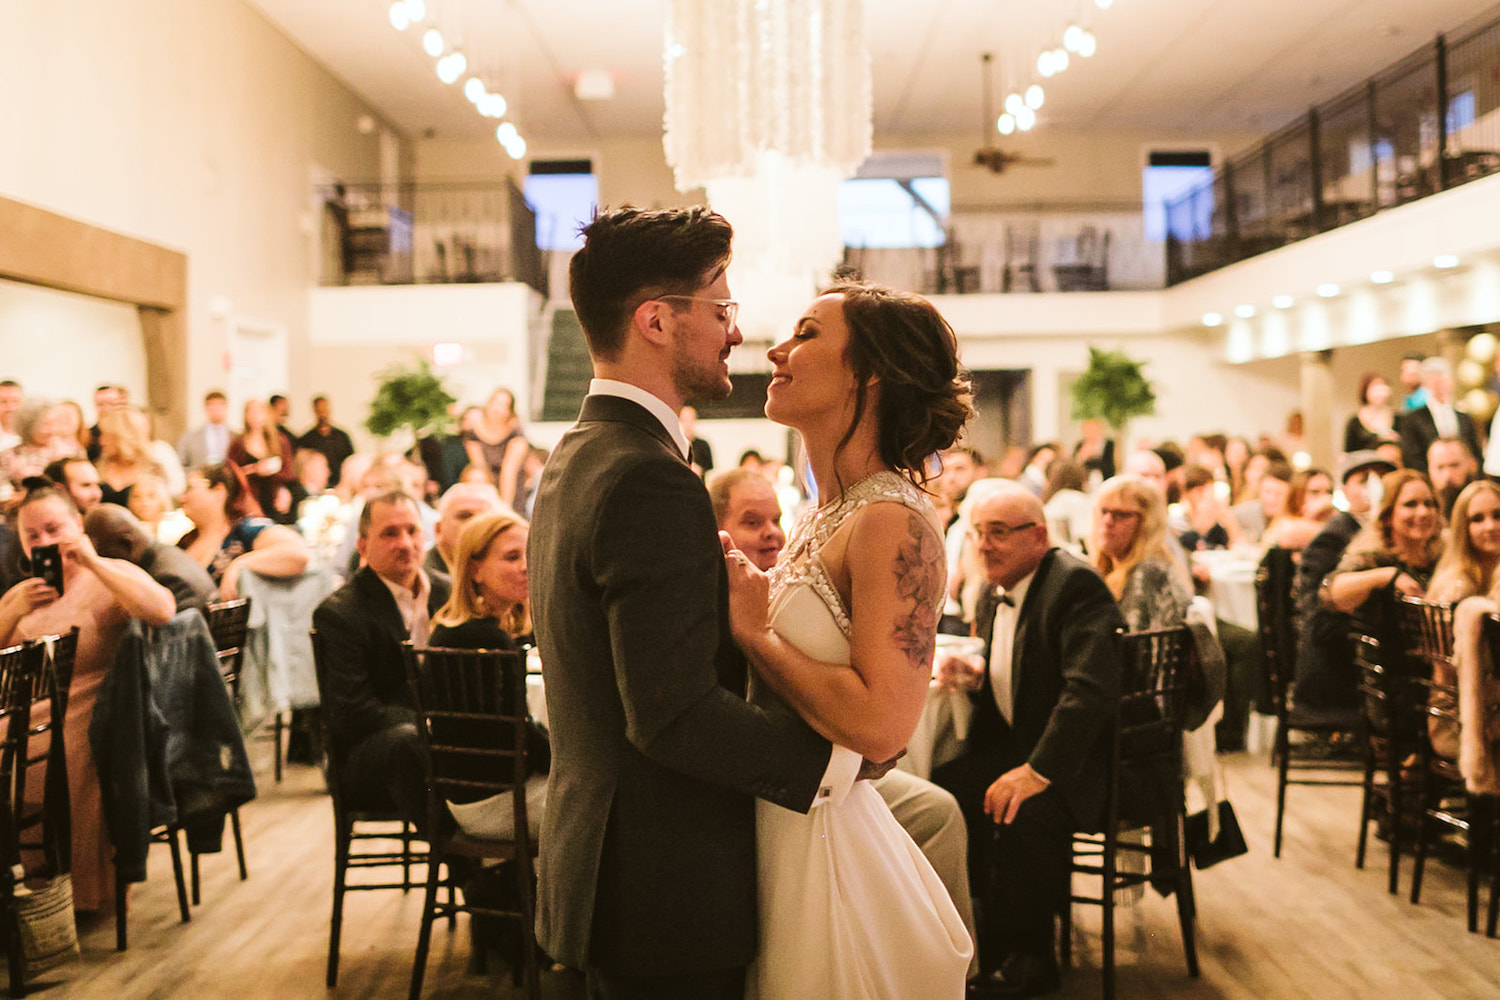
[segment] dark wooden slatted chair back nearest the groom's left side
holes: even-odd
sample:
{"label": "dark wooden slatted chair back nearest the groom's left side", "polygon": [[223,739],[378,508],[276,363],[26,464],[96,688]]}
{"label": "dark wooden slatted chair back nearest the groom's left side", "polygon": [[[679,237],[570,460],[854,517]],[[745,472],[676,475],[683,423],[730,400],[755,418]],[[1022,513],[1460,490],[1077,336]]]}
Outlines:
{"label": "dark wooden slatted chair back nearest the groom's left side", "polygon": [[442,801],[512,793],[516,841],[526,835],[526,661],[508,649],[404,645],[417,733],[430,768],[429,829]]}

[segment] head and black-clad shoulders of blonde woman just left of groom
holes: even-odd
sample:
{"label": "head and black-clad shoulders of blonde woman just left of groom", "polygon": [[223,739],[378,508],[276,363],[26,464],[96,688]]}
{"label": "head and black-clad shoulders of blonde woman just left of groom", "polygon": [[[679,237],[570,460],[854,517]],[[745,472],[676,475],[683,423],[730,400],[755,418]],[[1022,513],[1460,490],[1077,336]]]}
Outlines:
{"label": "head and black-clad shoulders of blonde woman just left of groom", "polygon": [[434,646],[514,649],[519,640],[530,640],[530,531],[512,510],[464,525],[453,552],[453,592],[432,618]]}

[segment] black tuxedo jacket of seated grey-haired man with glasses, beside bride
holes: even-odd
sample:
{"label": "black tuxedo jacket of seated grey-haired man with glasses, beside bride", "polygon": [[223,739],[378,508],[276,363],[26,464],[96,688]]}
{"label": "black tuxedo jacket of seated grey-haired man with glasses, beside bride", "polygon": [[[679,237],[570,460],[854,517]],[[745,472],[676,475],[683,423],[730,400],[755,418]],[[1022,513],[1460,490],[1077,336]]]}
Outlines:
{"label": "black tuxedo jacket of seated grey-haired man with glasses, beside bride", "polygon": [[[994,609],[993,591],[975,609],[975,634],[984,639],[986,661]],[[1018,753],[1062,793],[1080,829],[1095,829],[1104,813],[1110,721],[1120,685],[1114,631],[1124,627],[1100,574],[1052,549],[1036,567],[1016,621],[1011,724],[994,705],[988,670],[984,687],[974,693],[966,753]],[[992,781],[999,777],[996,771]]]}

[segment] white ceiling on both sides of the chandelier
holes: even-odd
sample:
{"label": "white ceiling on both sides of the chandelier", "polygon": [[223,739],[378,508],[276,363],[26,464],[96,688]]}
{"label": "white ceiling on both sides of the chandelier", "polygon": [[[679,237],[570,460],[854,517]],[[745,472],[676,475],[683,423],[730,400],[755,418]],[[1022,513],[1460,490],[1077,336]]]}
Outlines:
{"label": "white ceiling on both sides of the chandelier", "polygon": [[[728,0],[705,0],[720,1]],[[458,85],[441,84],[418,31],[398,33],[388,0],[249,0],[282,33],[411,136],[483,136]],[[531,142],[651,138],[662,129],[668,0],[428,0],[429,22],[462,45],[470,72],[512,105]],[[1098,37],[1092,60],[1047,85],[1040,127],[1269,132],[1308,106],[1494,7],[1494,0],[867,0],[878,141],[972,129],[980,55],[996,90],[1030,79],[1068,15]],[[609,102],[573,97],[608,70]],[[999,105],[999,94],[996,97]],[[1012,139],[1011,142],[1023,142]]]}

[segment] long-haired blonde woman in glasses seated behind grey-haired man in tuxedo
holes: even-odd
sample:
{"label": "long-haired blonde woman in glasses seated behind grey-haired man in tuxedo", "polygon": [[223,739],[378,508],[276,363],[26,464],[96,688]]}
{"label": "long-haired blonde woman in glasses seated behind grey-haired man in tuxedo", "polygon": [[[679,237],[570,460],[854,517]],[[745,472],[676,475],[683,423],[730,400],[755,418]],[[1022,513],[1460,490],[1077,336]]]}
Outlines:
{"label": "long-haired blonde woman in glasses seated behind grey-haired man in tuxedo", "polygon": [[1094,501],[1094,568],[1131,631],[1176,628],[1192,585],[1167,549],[1167,501],[1150,483],[1119,475]]}

